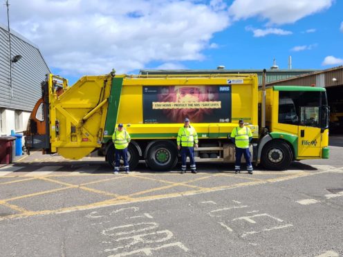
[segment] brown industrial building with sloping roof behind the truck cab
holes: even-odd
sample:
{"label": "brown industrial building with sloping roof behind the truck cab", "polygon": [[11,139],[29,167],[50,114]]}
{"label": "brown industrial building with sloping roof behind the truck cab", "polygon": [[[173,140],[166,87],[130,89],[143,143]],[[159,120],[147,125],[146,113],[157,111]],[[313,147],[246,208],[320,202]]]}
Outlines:
{"label": "brown industrial building with sloping roof behind the truck cab", "polygon": [[326,88],[330,106],[330,128],[343,133],[343,66],[281,79],[267,86],[317,86]]}

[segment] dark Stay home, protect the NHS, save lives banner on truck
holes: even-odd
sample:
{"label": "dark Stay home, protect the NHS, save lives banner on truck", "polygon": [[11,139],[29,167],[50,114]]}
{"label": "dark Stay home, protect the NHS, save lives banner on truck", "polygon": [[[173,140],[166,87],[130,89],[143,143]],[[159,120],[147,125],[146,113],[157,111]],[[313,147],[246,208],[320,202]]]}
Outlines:
{"label": "dark Stay home, protect the NHS, save lives banner on truck", "polygon": [[231,86],[143,86],[144,123],[231,122]]}

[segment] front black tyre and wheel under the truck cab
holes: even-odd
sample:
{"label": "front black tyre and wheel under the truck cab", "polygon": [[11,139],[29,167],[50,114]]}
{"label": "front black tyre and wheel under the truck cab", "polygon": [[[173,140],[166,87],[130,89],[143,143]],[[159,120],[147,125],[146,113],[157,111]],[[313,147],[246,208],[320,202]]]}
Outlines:
{"label": "front black tyre and wheel under the truck cab", "polygon": [[282,171],[292,162],[292,149],[286,142],[273,140],[268,142],[262,149],[261,164],[269,170]]}

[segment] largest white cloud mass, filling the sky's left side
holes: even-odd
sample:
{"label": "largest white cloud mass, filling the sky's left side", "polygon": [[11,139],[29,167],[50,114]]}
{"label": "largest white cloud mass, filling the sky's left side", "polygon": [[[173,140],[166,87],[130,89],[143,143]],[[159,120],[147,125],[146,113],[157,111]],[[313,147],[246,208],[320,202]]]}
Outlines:
{"label": "largest white cloud mass, filling the sky's left side", "polygon": [[214,33],[230,26],[225,8],[221,0],[21,0],[11,1],[10,17],[60,75],[77,76],[205,59]]}

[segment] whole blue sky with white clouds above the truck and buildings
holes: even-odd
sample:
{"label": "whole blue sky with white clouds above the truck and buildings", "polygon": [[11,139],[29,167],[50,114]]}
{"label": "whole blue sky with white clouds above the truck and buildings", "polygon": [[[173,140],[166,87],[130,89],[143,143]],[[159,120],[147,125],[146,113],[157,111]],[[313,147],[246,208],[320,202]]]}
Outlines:
{"label": "whole blue sky with white clouds above the truck and buildings", "polygon": [[[343,65],[339,0],[10,0],[11,28],[53,73],[141,68],[324,69]],[[6,8],[0,12],[6,24]]]}

